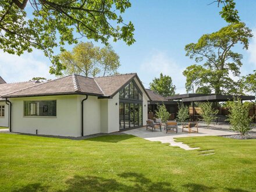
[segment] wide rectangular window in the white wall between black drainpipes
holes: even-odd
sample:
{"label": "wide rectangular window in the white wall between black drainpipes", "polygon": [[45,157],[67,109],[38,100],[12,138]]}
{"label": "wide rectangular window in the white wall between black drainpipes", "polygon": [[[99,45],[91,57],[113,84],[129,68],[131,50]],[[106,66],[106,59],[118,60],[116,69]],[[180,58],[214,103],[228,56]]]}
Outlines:
{"label": "wide rectangular window in the white wall between black drainpipes", "polygon": [[24,116],[56,117],[56,100],[24,101]]}

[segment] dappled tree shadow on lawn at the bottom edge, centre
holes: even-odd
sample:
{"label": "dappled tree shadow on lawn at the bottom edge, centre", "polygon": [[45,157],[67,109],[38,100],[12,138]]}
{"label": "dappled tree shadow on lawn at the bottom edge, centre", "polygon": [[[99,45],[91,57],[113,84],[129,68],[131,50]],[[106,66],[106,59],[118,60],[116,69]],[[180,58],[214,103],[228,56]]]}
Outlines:
{"label": "dappled tree shadow on lawn at the bottom edge, centre", "polygon": [[175,191],[169,183],[152,182],[139,173],[122,173],[118,175],[127,181],[119,182],[116,179],[106,179],[97,176],[74,176],[66,181],[65,191]]}

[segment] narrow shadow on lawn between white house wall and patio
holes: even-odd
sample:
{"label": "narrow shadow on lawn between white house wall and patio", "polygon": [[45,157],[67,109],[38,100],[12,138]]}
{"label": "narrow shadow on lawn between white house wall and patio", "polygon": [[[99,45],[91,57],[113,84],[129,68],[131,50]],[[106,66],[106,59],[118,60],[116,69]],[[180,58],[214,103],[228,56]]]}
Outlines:
{"label": "narrow shadow on lawn between white house wall and patio", "polygon": [[120,134],[120,135],[111,135],[111,136],[99,136],[94,138],[87,138],[85,141],[97,141],[97,142],[107,142],[107,143],[118,143],[120,141],[125,141],[130,138],[134,138],[131,134]]}

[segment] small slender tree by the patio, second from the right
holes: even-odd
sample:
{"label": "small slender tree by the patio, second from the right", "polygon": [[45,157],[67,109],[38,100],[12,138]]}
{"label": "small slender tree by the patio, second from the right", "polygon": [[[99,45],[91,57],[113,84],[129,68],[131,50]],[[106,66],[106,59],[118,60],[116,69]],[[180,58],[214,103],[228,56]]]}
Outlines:
{"label": "small slender tree by the patio, second from the right", "polygon": [[216,119],[216,116],[218,114],[218,109],[212,108],[211,102],[203,102],[200,105],[201,111],[200,115],[202,116],[202,120],[207,124],[207,127],[209,127],[212,120]]}

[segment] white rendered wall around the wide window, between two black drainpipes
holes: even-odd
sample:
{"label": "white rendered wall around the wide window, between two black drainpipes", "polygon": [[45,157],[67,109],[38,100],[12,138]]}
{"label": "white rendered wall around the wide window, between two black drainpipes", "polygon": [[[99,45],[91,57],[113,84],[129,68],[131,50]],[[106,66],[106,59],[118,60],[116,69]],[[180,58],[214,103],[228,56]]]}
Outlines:
{"label": "white rendered wall around the wide window, between two black drainpipes", "polygon": [[[56,99],[56,117],[25,117],[24,101]],[[81,136],[81,104],[77,95],[12,98],[12,131],[19,133]]]}

